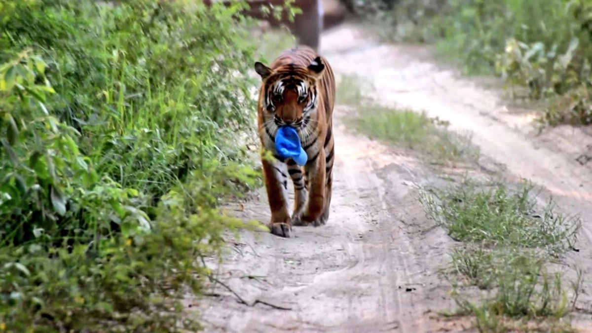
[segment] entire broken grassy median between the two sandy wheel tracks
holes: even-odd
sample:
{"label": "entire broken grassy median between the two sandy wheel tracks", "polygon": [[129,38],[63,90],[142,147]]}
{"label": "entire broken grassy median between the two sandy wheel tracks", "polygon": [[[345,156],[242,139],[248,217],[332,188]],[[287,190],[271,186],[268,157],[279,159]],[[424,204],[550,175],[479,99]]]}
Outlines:
{"label": "entire broken grassy median between the two sandy wheel tracks", "polygon": [[[378,105],[365,84],[356,76],[339,81],[337,103],[352,108],[350,127],[439,165],[463,161],[475,167],[479,152],[470,142],[423,113]],[[542,201],[529,181],[489,177],[457,175],[448,187],[420,192],[430,219],[458,242],[443,271],[458,305],[453,315],[474,316],[481,332],[572,331],[567,315],[583,275],[567,272],[561,260],[574,249],[580,219],[563,214],[551,199]]]}

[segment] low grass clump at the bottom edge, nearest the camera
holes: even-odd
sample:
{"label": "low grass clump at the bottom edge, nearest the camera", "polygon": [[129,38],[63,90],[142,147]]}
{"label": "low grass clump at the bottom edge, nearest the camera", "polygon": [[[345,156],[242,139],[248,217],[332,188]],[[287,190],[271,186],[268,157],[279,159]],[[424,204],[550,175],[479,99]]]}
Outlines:
{"label": "low grass clump at the bottom edge, nearest the camera", "polygon": [[566,287],[561,273],[546,271],[545,261],[503,253],[493,257],[501,260],[491,267],[487,296],[474,302],[458,292],[454,295],[459,313],[473,313],[480,332],[575,331],[564,318],[577,300],[581,278]]}

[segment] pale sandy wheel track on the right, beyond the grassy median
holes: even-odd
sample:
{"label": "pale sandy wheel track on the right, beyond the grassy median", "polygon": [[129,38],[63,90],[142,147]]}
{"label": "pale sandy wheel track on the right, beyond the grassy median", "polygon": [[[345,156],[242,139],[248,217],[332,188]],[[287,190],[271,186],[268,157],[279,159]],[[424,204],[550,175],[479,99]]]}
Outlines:
{"label": "pale sandy wheel track on the right, beyond the grassy median", "polygon": [[[581,160],[592,147],[592,136],[570,126],[559,126],[537,136],[531,126],[532,113],[513,112],[511,101],[500,90],[485,89],[476,80],[459,78],[456,72],[435,65],[424,47],[380,44],[361,31],[354,25],[344,25],[327,34],[327,40],[339,40],[329,48],[339,56],[326,55],[333,59],[334,70],[368,79],[377,100],[386,105],[426,111],[430,117],[449,121],[451,130],[471,135],[482,155],[504,165],[508,174],[542,187],[540,200],[552,196],[563,212],[579,215],[582,228],[575,246],[577,252],[568,254],[564,264],[571,266],[566,270],[568,278],[575,279],[573,267],[589,276],[592,167]],[[351,44],[359,47],[343,53]],[[584,277],[584,281],[590,278]],[[592,308],[592,297],[586,292],[589,286],[584,283],[578,308]],[[581,328],[592,331],[589,323],[588,318]]]}

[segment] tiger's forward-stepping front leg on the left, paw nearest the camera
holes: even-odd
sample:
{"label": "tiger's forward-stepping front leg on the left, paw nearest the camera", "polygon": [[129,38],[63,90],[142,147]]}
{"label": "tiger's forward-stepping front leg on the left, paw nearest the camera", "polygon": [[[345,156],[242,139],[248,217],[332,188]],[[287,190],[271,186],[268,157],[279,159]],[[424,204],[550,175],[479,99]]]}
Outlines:
{"label": "tiger's forward-stepping front leg on the left, paw nearest the camera", "polygon": [[284,162],[262,159],[263,180],[267,190],[271,221],[269,230],[276,236],[289,238],[292,220],[288,213],[288,172]]}

